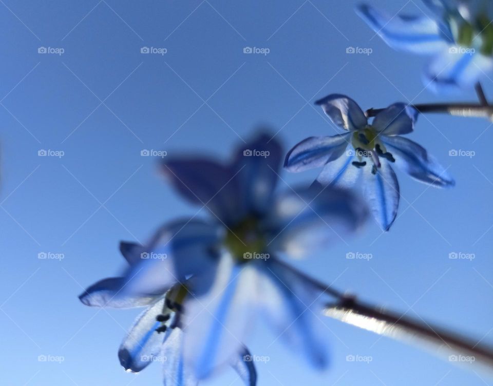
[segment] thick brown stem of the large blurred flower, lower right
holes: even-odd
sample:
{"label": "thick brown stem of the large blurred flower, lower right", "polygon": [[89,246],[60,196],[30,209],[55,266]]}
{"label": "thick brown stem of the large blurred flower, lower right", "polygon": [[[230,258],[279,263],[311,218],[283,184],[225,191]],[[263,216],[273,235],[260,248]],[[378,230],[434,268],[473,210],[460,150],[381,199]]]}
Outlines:
{"label": "thick brown stem of the large blurred flower, lower right", "polygon": [[383,310],[368,303],[360,302],[322,283],[296,268],[281,261],[301,280],[313,285],[321,292],[336,298],[326,305],[324,315],[339,321],[411,344],[421,343],[435,355],[454,364],[479,365],[493,374],[493,348],[480,344],[471,338],[446,331],[442,327],[432,326],[424,320],[406,316],[406,313]]}

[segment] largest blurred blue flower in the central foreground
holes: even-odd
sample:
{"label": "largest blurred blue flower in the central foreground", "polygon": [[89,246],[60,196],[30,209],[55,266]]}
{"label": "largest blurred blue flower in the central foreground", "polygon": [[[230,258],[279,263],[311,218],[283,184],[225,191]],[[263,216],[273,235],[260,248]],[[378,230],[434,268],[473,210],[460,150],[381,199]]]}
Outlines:
{"label": "largest blurred blue flower in the central foreground", "polygon": [[[139,261],[123,277],[90,287],[82,301],[127,306],[169,298],[183,329],[184,367],[198,379],[244,352],[242,342],[259,317],[274,329],[273,341],[286,341],[314,365],[325,366],[327,334],[317,334],[314,321],[326,289],[281,255],[300,256],[354,231],[367,209],[335,188],[275,193],[281,161],[280,145],[267,134],[241,146],[229,163],[168,157],[165,177],[210,216],[163,226],[131,254]],[[155,335],[155,327],[147,331]]]}

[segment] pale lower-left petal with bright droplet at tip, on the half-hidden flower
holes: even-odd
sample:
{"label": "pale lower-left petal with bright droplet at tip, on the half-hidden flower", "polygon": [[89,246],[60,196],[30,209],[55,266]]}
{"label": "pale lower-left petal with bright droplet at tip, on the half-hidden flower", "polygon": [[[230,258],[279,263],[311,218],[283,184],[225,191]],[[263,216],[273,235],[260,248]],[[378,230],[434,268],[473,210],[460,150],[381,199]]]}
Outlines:
{"label": "pale lower-left petal with bright droplet at tip, on the half-hidden flower", "polygon": [[170,313],[171,311],[165,307],[164,298],[161,298],[137,318],[118,350],[120,364],[125,370],[137,373],[153,361],[163,361],[158,355],[170,329],[158,333],[156,329],[161,326],[161,322],[158,322],[156,317]]}

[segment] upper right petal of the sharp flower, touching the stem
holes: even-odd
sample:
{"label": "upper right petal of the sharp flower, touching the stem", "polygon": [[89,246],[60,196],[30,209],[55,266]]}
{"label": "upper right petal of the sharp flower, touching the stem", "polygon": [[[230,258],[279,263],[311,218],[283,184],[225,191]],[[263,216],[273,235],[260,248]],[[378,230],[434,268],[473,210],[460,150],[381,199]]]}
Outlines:
{"label": "upper right petal of the sharp flower, touching the stem", "polygon": [[418,119],[418,110],[405,103],[394,103],[379,112],[372,122],[372,126],[385,136],[408,134],[414,128]]}

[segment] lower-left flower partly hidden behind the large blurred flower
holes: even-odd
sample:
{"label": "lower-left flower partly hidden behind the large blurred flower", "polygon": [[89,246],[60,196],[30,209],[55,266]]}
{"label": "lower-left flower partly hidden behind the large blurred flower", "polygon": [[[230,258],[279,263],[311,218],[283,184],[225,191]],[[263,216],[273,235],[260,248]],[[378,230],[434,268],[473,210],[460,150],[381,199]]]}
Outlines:
{"label": "lower-left flower partly hidden behind the large blurred flower", "polygon": [[[179,224],[174,224],[178,226]],[[184,225],[184,224],[181,224]],[[170,228],[174,228],[171,226]],[[175,228],[176,229],[176,228]],[[142,259],[165,256],[149,255],[139,244],[120,244],[120,250],[130,264],[138,265]],[[129,272],[133,272],[130,267]],[[187,295],[186,281],[177,283],[161,295],[119,296],[125,283],[124,277],[103,279],[79,297],[89,306],[128,308],[146,306],[146,310],[136,319],[118,351],[120,363],[126,371],[138,373],[152,362],[163,366],[164,384],[169,386],[194,386],[197,378],[183,359],[183,298]],[[190,279],[193,281],[193,278]],[[241,346],[229,364],[236,370],[247,386],[255,386],[257,373],[251,354]]]}

